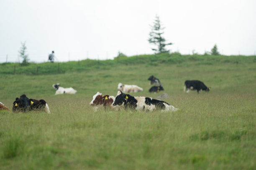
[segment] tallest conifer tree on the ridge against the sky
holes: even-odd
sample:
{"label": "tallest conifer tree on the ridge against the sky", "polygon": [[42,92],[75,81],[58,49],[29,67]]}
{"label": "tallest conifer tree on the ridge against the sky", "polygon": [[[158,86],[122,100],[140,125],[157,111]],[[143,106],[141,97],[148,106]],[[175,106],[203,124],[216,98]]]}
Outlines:
{"label": "tallest conifer tree on the ridge against the sky", "polygon": [[149,32],[148,42],[154,45],[157,45],[158,49],[151,48],[156,51],[156,53],[169,52],[169,50],[165,49],[166,45],[172,45],[172,43],[165,43],[165,39],[163,37],[164,27],[161,27],[161,23],[159,17],[156,15],[156,19],[154,21],[154,26],[151,26],[151,32]]}

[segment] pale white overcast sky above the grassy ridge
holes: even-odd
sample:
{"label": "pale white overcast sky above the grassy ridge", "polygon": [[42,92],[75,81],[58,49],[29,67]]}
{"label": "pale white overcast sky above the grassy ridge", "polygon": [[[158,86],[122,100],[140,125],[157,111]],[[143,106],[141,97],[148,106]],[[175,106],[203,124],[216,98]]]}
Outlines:
{"label": "pale white overcast sky above the grassy ridge", "polygon": [[0,62],[17,62],[24,41],[34,62],[153,54],[156,15],[172,52],[256,50],[256,0],[0,0]]}

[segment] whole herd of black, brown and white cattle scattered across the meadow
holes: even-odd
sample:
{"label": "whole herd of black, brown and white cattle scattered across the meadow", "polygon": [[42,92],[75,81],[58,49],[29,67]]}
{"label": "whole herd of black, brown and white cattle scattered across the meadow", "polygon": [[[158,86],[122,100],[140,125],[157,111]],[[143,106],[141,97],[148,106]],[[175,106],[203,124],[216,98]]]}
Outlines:
{"label": "whole herd of black, brown and white cattle scattered across the meadow", "polygon": [[[149,89],[149,92],[159,92],[164,90],[159,79],[153,75],[148,78],[150,80],[149,85],[154,85]],[[60,84],[52,85],[56,89],[55,95],[59,94],[76,94],[77,90],[72,87],[64,88],[60,87]],[[203,82],[199,80],[186,80],[184,83],[184,92],[189,93],[189,90],[197,90],[199,93],[202,90],[209,91],[210,87],[207,87]],[[102,93],[97,92],[90,102],[91,106],[103,105],[104,108],[111,107],[116,109],[132,109],[132,110],[142,110],[142,111],[176,111],[178,108],[164,102],[162,100],[153,99],[151,97],[134,97],[132,95],[126,94],[130,92],[140,92],[143,88],[137,85],[124,85],[122,83],[118,84],[117,95],[102,95]],[[0,110],[9,110],[2,102],[0,102]],[[50,109],[45,100],[29,99],[26,95],[21,95],[20,98],[16,97],[13,102],[13,112],[27,112],[32,110],[45,111],[50,113]]]}

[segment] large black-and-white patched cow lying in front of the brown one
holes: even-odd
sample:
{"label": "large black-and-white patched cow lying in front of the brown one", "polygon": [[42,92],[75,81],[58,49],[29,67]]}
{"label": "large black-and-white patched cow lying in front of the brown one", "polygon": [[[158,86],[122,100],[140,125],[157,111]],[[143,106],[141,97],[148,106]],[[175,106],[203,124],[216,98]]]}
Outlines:
{"label": "large black-and-white patched cow lying in front of the brown one", "polygon": [[133,97],[118,91],[115,100],[111,107],[124,107],[125,109],[131,108],[133,110],[162,110],[162,111],[176,111],[178,110],[172,105],[162,100],[152,99],[151,97]]}

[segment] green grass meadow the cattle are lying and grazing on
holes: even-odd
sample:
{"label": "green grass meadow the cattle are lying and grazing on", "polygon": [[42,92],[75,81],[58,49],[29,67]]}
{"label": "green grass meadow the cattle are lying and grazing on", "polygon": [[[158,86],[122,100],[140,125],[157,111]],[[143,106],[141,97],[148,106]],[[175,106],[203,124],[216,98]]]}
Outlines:
{"label": "green grass meadow the cattle are lying and grazing on", "polygon": [[[217,58],[110,66],[102,61],[100,67],[92,62],[87,66],[92,68],[61,74],[2,70],[1,102],[11,109],[15,97],[26,94],[46,100],[51,114],[0,111],[0,169],[256,169],[255,57]],[[148,92],[150,75],[161,80],[169,95],[164,100],[179,111],[94,112],[90,107],[97,91],[115,96],[119,82],[143,87],[131,95],[161,95]],[[184,81],[192,79],[211,91],[185,94]],[[58,82],[77,94],[54,95],[51,85]]]}

